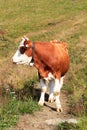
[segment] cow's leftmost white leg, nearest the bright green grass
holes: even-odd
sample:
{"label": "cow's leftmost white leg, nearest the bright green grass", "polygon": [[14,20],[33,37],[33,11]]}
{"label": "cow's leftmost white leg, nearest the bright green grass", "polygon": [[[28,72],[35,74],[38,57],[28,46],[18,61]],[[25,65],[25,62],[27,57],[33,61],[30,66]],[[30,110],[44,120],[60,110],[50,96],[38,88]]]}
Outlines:
{"label": "cow's leftmost white leg, nearest the bright green grass", "polygon": [[44,100],[45,100],[45,93],[46,93],[46,81],[44,79],[40,79],[40,85],[41,85],[41,96],[40,100],[38,102],[39,105],[43,106],[44,105]]}

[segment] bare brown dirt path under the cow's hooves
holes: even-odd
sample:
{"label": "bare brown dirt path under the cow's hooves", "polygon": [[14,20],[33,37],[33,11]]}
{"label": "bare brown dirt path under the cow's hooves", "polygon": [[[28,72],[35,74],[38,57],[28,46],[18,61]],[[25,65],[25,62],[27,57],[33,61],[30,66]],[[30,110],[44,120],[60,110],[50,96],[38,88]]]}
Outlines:
{"label": "bare brown dirt path under the cow's hooves", "polygon": [[61,92],[61,103],[63,112],[55,111],[55,104],[45,102],[41,111],[35,112],[33,115],[26,114],[19,118],[19,122],[15,128],[10,130],[56,130],[58,120],[72,119],[69,114],[69,102],[66,92]]}

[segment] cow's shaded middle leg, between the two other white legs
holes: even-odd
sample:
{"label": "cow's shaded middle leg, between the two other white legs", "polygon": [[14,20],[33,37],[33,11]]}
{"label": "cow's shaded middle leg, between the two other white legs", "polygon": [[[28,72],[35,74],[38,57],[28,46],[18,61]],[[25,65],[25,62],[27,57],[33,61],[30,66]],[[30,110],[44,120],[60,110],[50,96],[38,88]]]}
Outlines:
{"label": "cow's shaded middle leg, between the two other white legs", "polygon": [[54,79],[50,80],[48,85],[49,85],[49,89],[50,89],[49,102],[54,102],[54,100],[55,100],[54,94],[53,94],[53,90],[54,90],[54,86],[55,86]]}

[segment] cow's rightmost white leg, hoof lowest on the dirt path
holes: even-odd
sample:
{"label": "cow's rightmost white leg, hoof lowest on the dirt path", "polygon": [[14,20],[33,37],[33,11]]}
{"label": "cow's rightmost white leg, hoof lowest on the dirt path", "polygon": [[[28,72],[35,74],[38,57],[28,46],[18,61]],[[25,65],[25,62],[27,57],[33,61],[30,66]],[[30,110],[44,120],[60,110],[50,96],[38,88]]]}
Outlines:
{"label": "cow's rightmost white leg, hoof lowest on the dirt path", "polygon": [[62,111],[61,103],[60,103],[60,90],[63,85],[63,77],[59,79],[55,79],[55,86],[54,86],[54,96],[56,102],[56,109],[58,112]]}

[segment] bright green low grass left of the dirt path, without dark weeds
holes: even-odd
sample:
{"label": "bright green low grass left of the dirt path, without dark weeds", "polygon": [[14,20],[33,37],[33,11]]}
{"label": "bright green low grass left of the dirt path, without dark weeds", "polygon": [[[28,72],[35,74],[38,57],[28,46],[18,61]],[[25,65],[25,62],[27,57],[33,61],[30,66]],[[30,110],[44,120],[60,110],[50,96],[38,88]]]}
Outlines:
{"label": "bright green low grass left of the dirt path, without dark weeds", "polygon": [[33,114],[39,111],[40,106],[37,102],[27,99],[27,101],[10,99],[0,108],[0,130],[5,130],[11,126],[15,126],[18,122],[20,114]]}

